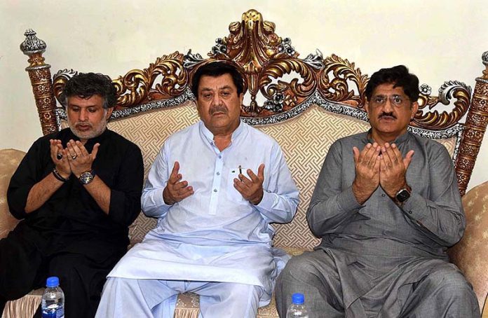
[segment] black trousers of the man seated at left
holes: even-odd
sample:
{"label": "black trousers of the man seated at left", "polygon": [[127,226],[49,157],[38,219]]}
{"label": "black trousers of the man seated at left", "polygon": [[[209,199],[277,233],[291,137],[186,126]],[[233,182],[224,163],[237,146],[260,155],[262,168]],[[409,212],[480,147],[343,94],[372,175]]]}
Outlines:
{"label": "black trousers of the man seated at left", "polygon": [[[7,300],[21,298],[45,286],[47,277],[57,276],[65,293],[66,317],[95,317],[105,277],[125,251],[111,249],[100,257],[104,242],[98,247],[93,240],[86,244],[93,245],[94,254],[67,251],[52,238],[46,240],[22,227],[0,240],[0,314]],[[41,317],[40,308],[34,317]]]}

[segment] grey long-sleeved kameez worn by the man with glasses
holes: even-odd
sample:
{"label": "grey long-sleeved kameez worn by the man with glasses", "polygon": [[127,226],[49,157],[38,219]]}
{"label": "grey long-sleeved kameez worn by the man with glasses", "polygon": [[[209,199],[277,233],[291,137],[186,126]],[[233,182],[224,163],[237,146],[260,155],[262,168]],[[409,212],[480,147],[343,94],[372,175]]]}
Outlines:
{"label": "grey long-sleeved kameez worn by the man with glasses", "polygon": [[394,143],[404,157],[415,151],[406,176],[412,197],[400,208],[379,186],[359,205],[351,188],[353,146],[361,150],[372,143],[367,136],[355,134],[332,144],[307,220],[322,238],[317,249],[337,270],[346,317],[399,317],[409,293],[402,286],[420,281],[433,268],[456,270],[447,263],[446,249],[461,239],[466,222],[446,148],[409,132]]}

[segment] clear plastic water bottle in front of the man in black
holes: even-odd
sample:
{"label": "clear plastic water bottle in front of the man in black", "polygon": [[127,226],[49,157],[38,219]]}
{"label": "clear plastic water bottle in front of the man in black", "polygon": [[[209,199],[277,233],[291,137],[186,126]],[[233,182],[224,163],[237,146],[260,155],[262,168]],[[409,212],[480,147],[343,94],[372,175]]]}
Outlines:
{"label": "clear plastic water bottle in front of the man in black", "polygon": [[60,279],[53,276],[46,280],[46,289],[41,300],[42,318],[65,318],[65,293],[60,287]]}

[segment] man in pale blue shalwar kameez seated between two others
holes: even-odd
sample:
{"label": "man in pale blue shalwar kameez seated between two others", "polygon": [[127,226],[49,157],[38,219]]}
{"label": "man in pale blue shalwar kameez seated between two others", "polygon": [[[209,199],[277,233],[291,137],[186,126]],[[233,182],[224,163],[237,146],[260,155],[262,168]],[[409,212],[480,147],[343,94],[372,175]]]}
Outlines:
{"label": "man in pale blue shalwar kameez seated between two others", "polygon": [[255,317],[271,299],[287,255],[270,223],[292,220],[298,190],[278,143],[240,121],[233,66],[205,64],[192,90],[201,121],[165,141],[142,193],[157,226],[110,272],[96,317],[173,317],[187,291],[204,318]]}

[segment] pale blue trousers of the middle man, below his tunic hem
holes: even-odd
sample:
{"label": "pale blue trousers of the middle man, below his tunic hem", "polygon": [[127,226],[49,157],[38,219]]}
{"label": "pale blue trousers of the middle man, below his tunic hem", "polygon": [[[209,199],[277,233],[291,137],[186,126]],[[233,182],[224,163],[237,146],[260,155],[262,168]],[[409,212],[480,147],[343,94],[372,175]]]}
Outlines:
{"label": "pale blue trousers of the middle man, below his tunic hem", "polygon": [[95,318],[170,318],[179,293],[200,295],[203,318],[255,318],[261,286],[224,282],[109,277]]}

